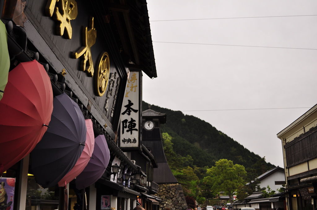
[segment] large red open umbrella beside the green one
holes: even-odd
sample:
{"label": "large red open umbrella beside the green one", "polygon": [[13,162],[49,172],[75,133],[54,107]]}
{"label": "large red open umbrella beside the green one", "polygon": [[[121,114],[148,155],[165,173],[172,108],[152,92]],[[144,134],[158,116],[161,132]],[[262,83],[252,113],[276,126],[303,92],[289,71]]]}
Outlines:
{"label": "large red open umbrella beside the green one", "polygon": [[0,165],[9,169],[42,139],[51,120],[53,91],[43,65],[20,63],[9,72],[0,101]]}

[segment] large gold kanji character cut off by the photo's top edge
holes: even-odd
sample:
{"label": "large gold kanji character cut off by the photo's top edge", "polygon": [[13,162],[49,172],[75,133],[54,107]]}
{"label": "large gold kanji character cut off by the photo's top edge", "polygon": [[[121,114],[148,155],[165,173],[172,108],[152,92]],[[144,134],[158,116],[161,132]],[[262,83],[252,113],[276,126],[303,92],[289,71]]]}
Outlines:
{"label": "large gold kanji character cut off by the photo's top edge", "polygon": [[[57,5],[56,7],[55,4]],[[46,15],[60,22],[56,33],[62,36],[66,29],[67,38],[71,39],[73,29],[70,20],[76,19],[78,14],[75,0],[49,0],[46,4],[45,11]]]}

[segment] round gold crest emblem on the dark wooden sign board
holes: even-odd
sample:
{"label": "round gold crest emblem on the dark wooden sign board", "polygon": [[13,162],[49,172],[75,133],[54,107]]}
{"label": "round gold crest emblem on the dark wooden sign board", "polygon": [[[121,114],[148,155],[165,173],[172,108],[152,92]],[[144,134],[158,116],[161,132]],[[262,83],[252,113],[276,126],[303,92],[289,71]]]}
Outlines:
{"label": "round gold crest emblem on the dark wooden sign board", "polygon": [[98,96],[103,96],[107,89],[110,62],[107,52],[103,52],[99,57],[98,72],[95,73],[96,92]]}

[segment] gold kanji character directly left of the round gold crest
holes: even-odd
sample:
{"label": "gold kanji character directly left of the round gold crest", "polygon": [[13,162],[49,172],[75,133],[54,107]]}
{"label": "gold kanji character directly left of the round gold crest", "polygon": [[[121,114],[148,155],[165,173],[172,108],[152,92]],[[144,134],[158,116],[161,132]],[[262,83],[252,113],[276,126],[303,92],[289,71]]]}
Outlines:
{"label": "gold kanji character directly left of the round gold crest", "polygon": [[[90,47],[94,45],[97,38],[97,30],[94,28],[94,17],[91,17],[90,28],[83,29],[83,44],[85,46],[81,47],[77,52],[73,52],[73,58],[78,59],[83,57],[81,60],[81,70],[90,73],[90,76],[94,76],[94,64],[91,57]],[[88,61],[88,63],[87,63]]]}

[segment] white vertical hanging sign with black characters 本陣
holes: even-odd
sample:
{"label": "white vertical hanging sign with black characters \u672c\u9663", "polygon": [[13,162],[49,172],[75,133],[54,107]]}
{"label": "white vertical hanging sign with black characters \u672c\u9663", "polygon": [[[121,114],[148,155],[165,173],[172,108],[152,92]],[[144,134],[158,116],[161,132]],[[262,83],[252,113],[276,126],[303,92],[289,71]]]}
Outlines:
{"label": "white vertical hanging sign with black characters \u672c\u9663", "polygon": [[130,72],[120,120],[120,148],[123,151],[141,149],[141,90],[140,72]]}

